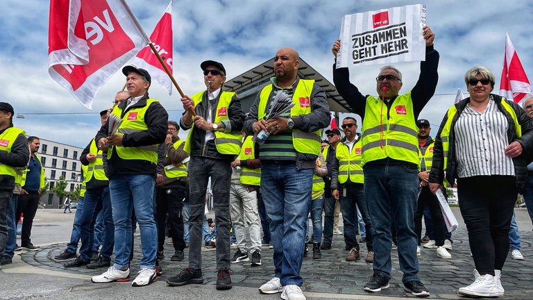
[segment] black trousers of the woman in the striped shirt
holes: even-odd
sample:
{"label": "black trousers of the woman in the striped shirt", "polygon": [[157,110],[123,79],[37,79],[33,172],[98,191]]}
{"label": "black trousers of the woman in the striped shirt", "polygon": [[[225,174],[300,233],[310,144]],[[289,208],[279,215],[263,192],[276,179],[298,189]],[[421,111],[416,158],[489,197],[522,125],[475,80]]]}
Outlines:
{"label": "black trousers of the woman in the striped shirt", "polygon": [[468,229],[475,268],[481,275],[501,270],[509,253],[509,226],[518,188],[514,176],[457,179],[459,208]]}

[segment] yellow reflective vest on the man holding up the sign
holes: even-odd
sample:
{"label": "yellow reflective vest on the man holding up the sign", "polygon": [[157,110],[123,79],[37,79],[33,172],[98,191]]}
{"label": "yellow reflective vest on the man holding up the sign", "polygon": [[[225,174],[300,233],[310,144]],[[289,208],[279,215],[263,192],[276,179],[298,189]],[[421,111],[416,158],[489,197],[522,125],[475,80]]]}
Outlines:
{"label": "yellow reflective vest on the man holding up the sign", "polygon": [[387,119],[387,106],[381,99],[366,98],[362,126],[363,165],[387,157],[418,165],[418,128],[411,92],[396,97],[389,116]]}

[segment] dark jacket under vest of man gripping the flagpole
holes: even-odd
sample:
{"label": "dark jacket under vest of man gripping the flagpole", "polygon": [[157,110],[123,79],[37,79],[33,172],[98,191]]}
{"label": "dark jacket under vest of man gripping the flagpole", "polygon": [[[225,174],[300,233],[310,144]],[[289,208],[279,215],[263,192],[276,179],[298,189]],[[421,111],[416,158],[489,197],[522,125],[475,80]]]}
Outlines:
{"label": "dark jacket under vest of man gripping the flagpole", "polygon": [[[219,103],[219,99],[223,91],[219,92],[219,95],[216,99],[214,99],[214,105],[212,105],[212,119],[214,119],[214,116],[216,114],[215,110],[217,110],[217,105]],[[209,107],[209,98],[208,98],[208,92],[204,92],[202,96],[202,101],[200,104],[197,104],[194,108],[194,111],[196,112],[196,115],[203,117],[204,119],[208,116],[208,107]],[[242,111],[241,101],[239,100],[239,97],[237,97],[237,94],[235,94],[230,102],[230,106],[228,106],[228,118],[229,122],[224,122],[224,124],[230,124],[230,130],[232,133],[241,133],[242,131],[242,124],[244,122],[244,113]],[[183,117],[180,119],[180,127],[183,130],[189,130],[192,126],[185,126],[183,123]],[[228,126],[226,125],[226,128]],[[189,142],[188,140],[185,142]],[[233,160],[235,158],[234,155],[231,154],[221,154],[219,151],[217,151],[217,145],[214,144],[214,140],[210,140],[209,142],[205,143],[205,131],[199,129],[198,127],[194,126],[192,128],[192,137],[191,137],[191,156],[205,156],[208,158],[217,158],[217,159],[224,159],[224,160]]]}

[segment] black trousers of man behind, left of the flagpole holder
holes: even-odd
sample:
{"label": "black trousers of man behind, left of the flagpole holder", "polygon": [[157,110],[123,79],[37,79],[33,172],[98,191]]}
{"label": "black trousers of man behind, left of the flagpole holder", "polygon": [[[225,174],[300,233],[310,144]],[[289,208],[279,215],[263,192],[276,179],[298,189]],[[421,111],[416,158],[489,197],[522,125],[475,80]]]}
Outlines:
{"label": "black trousers of man behind, left of the flagpole holder", "polygon": [[164,232],[168,222],[174,250],[183,251],[185,240],[183,239],[183,199],[187,196],[185,183],[176,188],[158,188],[157,214],[155,221],[158,223],[158,251],[164,246]]}

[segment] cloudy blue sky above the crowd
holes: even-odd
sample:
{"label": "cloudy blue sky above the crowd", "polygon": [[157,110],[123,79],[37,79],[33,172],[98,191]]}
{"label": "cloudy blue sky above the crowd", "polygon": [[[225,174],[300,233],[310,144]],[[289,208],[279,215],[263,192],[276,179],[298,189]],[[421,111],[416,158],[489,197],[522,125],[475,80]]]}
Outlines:
{"label": "cloudy blue sky above the crowd", "polygon": [[[151,34],[169,1],[126,0],[144,31]],[[339,37],[343,15],[394,6],[422,3],[428,7],[428,26],[435,33],[435,48],[441,54],[437,94],[421,113],[438,124],[453,103],[457,88],[466,94],[464,72],[484,65],[496,74],[496,90],[502,70],[505,33],[528,76],[533,76],[533,1],[175,1],[174,76],[185,94],[203,89],[200,63],[222,62],[228,79],[272,58],[283,46],[297,49],[314,69],[332,81],[332,43]],[[48,74],[49,1],[0,1],[0,82],[1,101],[12,103],[15,126],[46,140],[85,147],[99,128],[98,112],[110,107],[115,92],[124,83],[121,72],[96,94],[93,111],[78,103]],[[419,63],[399,63],[403,89],[412,88]],[[375,92],[380,66],[354,67],[351,80],[364,94]],[[169,97],[157,83],[150,95],[179,119],[183,108],[178,92]],[[343,117],[341,115],[341,117]],[[184,135],[184,133],[180,133]]]}

